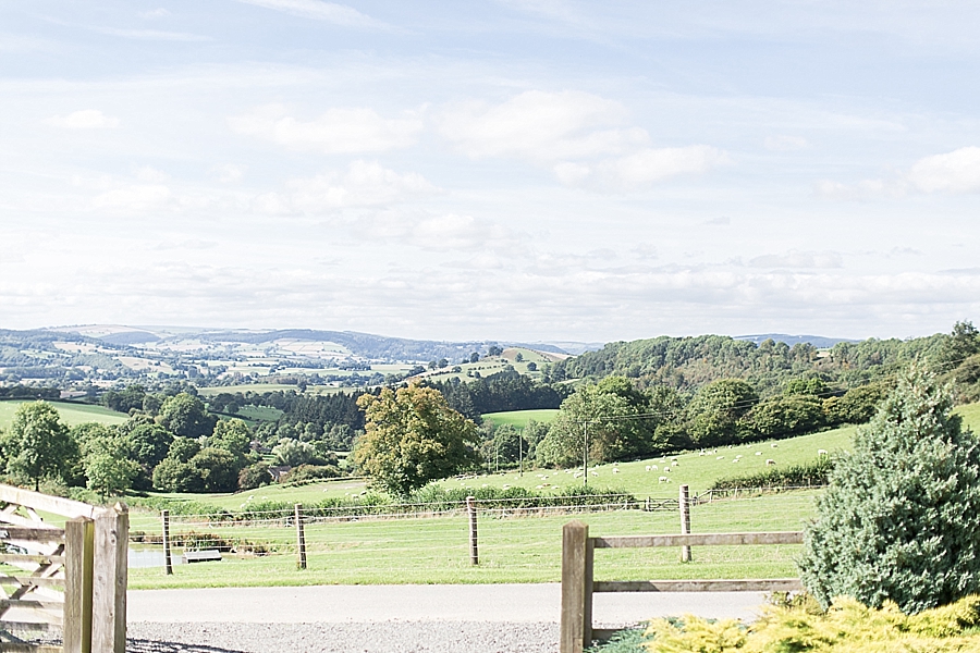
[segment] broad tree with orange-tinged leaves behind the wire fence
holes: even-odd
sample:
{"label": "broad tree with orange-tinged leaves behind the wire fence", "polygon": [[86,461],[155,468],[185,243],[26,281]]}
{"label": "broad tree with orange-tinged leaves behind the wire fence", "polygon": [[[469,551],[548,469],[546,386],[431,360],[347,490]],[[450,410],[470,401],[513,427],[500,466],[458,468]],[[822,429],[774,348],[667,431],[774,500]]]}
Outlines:
{"label": "broad tree with orange-tinged leaves behind the wire fence", "polygon": [[377,396],[362,395],[357,404],[366,424],[354,460],[375,485],[396,496],[479,464],[476,424],[434,389],[384,387]]}

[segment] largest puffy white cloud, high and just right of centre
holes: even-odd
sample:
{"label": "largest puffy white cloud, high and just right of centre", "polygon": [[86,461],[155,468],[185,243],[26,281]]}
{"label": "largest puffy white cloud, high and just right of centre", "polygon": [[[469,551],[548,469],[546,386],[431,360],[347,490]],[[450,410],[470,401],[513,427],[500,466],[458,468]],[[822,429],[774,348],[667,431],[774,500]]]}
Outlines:
{"label": "largest puffy white cloud, high and just right of centre", "polygon": [[561,161],[622,153],[648,140],[645,130],[618,124],[626,111],[599,96],[529,90],[506,102],[457,106],[440,116],[440,133],[473,158]]}

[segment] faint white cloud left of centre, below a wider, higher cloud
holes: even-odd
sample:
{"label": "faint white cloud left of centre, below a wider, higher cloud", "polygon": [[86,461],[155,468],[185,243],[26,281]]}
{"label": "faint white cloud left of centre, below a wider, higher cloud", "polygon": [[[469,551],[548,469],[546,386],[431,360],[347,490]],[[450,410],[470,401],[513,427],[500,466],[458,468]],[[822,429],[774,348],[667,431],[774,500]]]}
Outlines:
{"label": "faint white cloud left of centre, below a wider, higher cloud", "polygon": [[286,190],[261,195],[255,209],[264,213],[323,213],[347,207],[389,205],[438,192],[414,172],[399,174],[377,162],[354,161],[346,172],[326,172],[293,180]]}

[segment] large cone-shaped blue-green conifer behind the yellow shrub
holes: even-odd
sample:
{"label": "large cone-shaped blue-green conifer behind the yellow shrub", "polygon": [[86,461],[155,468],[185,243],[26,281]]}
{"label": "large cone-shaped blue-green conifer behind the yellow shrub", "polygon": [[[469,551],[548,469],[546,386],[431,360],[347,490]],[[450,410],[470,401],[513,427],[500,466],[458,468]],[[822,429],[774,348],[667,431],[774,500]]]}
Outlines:
{"label": "large cone-shaped blue-green conifer behind the yellow shrub", "polygon": [[848,595],[918,613],[980,592],[980,444],[952,408],[914,368],[837,460],[799,562],[824,606]]}

